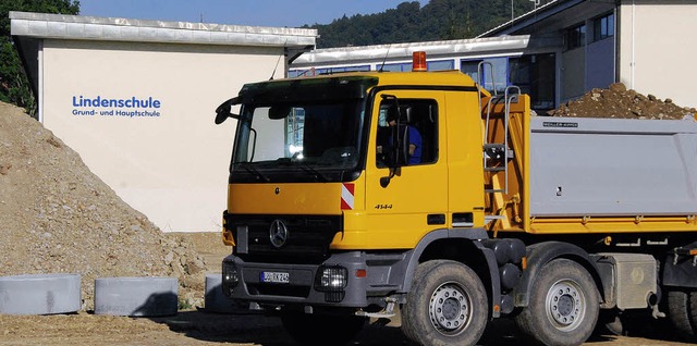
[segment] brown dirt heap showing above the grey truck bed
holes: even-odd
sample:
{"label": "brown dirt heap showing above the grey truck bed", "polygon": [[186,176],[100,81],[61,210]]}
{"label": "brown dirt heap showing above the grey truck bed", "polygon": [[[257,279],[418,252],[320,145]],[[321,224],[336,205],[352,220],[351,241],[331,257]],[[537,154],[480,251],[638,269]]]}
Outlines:
{"label": "brown dirt heap showing above the grey truck bed", "polygon": [[694,108],[680,107],[671,99],[660,100],[628,89],[622,83],[608,89],[592,89],[580,98],[547,112],[552,116],[682,120],[696,114]]}

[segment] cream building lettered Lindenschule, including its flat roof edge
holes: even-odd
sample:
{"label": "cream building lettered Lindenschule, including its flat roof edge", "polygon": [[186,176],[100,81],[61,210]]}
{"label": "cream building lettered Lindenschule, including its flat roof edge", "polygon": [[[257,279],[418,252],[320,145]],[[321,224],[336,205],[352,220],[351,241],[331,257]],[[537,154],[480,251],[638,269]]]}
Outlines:
{"label": "cream building lettered Lindenschule, including its flat roof edge", "polygon": [[44,125],[163,231],[219,231],[244,83],[283,77],[314,29],[11,12]]}

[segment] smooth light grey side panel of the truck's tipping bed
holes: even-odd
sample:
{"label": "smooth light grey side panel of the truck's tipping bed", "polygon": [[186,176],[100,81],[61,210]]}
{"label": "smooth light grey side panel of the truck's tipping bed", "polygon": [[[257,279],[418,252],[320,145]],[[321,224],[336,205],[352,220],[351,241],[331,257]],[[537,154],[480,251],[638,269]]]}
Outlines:
{"label": "smooth light grey side panel of the truck's tipping bed", "polygon": [[697,213],[697,122],[530,120],[531,217]]}

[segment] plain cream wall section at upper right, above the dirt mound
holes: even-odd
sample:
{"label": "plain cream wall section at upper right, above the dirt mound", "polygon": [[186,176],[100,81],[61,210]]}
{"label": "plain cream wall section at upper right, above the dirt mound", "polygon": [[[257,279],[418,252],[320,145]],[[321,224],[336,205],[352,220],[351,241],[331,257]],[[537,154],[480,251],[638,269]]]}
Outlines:
{"label": "plain cream wall section at upper right, above the dirt mound", "polygon": [[690,0],[624,0],[620,7],[620,81],[641,94],[697,107],[694,70],[697,5]]}

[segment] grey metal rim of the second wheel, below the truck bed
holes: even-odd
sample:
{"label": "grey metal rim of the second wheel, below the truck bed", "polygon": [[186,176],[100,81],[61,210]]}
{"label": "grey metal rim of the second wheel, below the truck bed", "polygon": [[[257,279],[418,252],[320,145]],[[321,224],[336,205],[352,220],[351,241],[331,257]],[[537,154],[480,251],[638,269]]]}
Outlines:
{"label": "grey metal rim of the second wheel, below the truck bed", "polygon": [[547,292],[547,317],[555,329],[573,331],[584,319],[586,304],[586,296],[576,282],[560,280]]}

